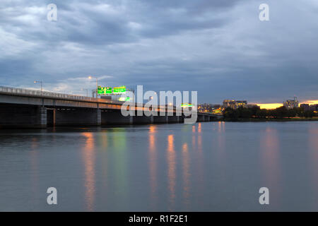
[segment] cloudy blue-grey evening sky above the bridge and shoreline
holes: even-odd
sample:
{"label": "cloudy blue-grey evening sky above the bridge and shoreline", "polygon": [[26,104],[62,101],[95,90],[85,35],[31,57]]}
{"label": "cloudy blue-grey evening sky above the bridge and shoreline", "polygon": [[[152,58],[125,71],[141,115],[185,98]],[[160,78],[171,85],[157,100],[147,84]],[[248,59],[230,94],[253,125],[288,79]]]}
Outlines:
{"label": "cloudy blue-grey evening sky above the bridge and shoreline", "polygon": [[1,0],[0,85],[86,95],[95,76],[201,103],[318,100],[317,22],[317,0]]}

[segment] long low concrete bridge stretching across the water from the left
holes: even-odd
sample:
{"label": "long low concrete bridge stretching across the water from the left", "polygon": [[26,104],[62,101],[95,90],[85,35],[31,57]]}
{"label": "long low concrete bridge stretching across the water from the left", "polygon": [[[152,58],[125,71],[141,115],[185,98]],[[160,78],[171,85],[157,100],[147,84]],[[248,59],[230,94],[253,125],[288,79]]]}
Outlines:
{"label": "long low concrete bridge stretching across the water from the left", "polygon": [[[21,88],[0,87],[0,128],[45,128],[47,126],[101,126],[113,124],[183,123],[182,109],[157,106],[150,109],[158,116],[145,114],[149,109],[135,103],[124,117],[124,102],[80,95],[68,95]],[[165,112],[161,116],[160,112]],[[168,114],[169,113],[169,114]],[[197,112],[197,121],[212,121],[216,115]]]}

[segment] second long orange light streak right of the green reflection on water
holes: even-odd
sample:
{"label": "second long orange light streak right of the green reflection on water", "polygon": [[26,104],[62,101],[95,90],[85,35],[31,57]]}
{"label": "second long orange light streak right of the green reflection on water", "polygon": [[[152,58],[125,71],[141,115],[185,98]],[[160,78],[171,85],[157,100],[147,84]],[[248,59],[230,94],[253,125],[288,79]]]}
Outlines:
{"label": "second long orange light streak right of the green reflection on water", "polygon": [[169,210],[172,211],[175,208],[175,182],[176,182],[176,173],[175,173],[175,144],[174,136],[171,134],[167,137],[167,167],[168,167],[168,190],[170,193],[169,196]]}

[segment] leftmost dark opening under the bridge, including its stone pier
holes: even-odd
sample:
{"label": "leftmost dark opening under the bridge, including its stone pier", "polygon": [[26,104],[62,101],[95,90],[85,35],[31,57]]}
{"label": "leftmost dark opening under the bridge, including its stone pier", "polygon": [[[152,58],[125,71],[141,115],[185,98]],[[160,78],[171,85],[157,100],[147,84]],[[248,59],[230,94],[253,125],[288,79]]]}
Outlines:
{"label": "leftmost dark opening under the bridge, including its stone pier", "polygon": [[46,126],[46,107],[0,105],[0,128],[45,128]]}

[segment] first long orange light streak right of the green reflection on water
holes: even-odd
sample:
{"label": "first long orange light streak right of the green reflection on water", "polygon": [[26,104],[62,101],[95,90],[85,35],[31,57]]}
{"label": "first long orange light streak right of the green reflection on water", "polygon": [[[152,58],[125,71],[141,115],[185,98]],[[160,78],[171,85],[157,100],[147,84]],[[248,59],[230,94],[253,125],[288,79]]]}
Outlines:
{"label": "first long orange light streak right of the green reflection on water", "polygon": [[155,126],[149,128],[149,172],[151,184],[151,205],[155,210],[158,201],[157,195],[157,151],[155,148]]}

